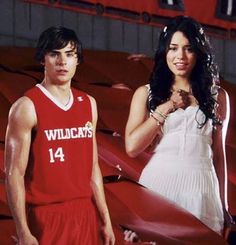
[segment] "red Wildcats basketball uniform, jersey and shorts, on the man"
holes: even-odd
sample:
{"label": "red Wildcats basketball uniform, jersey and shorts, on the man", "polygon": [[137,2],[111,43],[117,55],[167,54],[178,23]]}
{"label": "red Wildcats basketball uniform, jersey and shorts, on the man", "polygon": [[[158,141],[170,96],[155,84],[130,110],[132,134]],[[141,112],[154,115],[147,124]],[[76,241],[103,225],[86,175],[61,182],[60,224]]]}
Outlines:
{"label": "red Wildcats basketball uniform, jersey and shorts, on the man", "polygon": [[[84,229],[81,231],[81,224],[77,224],[80,231],[75,229],[74,233],[78,237],[80,236],[78,233],[82,232],[81,237],[84,237],[88,228],[90,231],[96,230],[96,214],[91,202],[90,186],[93,164],[90,99],[85,93],[72,88],[70,100],[64,106],[42,85],[36,85],[27,91],[25,96],[32,100],[37,114],[37,127],[32,132],[32,144],[25,175],[26,202],[31,207],[30,227],[33,227],[33,234],[38,237],[40,244],[44,244],[44,241],[45,244],[49,244],[48,241],[54,231],[48,230],[45,235],[42,232],[44,226],[49,227],[49,223],[56,222],[58,229],[61,230],[61,223],[65,223],[68,217],[74,218],[77,212],[79,220],[77,223],[82,222]],[[56,215],[50,221],[48,216],[51,211]],[[81,220],[87,220],[88,228]],[[70,229],[72,224],[75,226],[74,220],[70,222]],[[60,244],[59,241],[68,242],[68,237],[73,237],[70,229],[63,228],[68,230],[69,235],[60,234],[61,238],[57,244]],[[59,236],[56,233],[54,235]],[[88,237],[91,237],[91,233]],[[74,243],[73,238],[72,242],[71,244],[80,244],[79,241]],[[86,244],[94,244],[94,242],[91,240]]]}

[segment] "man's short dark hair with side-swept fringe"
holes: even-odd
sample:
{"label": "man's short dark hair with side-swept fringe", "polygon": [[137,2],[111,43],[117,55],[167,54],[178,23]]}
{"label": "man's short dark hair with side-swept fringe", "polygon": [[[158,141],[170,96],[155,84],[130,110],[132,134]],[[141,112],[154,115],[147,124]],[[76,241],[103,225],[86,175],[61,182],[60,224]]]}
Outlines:
{"label": "man's short dark hair with side-swept fringe", "polygon": [[44,56],[47,53],[55,49],[62,49],[69,43],[74,46],[74,49],[78,55],[78,60],[81,62],[83,60],[82,44],[76,33],[73,30],[62,26],[49,27],[41,33],[38,39],[35,58],[39,62],[44,62]]}

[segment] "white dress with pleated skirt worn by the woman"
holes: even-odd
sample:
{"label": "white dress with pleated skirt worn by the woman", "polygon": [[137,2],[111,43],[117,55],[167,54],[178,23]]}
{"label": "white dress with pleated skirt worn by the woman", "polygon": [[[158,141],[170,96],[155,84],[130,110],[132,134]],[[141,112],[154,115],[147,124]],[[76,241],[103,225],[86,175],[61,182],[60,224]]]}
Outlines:
{"label": "white dress with pleated skirt worn by the woman", "polygon": [[204,114],[198,106],[170,113],[163,137],[139,182],[188,210],[221,233],[223,210],[212,161],[212,121],[198,128]]}

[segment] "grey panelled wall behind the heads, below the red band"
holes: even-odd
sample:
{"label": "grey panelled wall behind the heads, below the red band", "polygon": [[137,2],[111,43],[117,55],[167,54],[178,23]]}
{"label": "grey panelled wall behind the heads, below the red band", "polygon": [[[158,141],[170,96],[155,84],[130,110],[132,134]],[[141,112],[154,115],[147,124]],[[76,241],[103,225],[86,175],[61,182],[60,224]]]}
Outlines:
{"label": "grey panelled wall behind the heads, below the red band", "polygon": [[[0,46],[34,46],[45,28],[74,29],[84,48],[153,56],[160,27],[72,12],[21,0],[0,1]],[[210,36],[222,76],[236,83],[236,40]],[[2,62],[2,61],[1,61]]]}

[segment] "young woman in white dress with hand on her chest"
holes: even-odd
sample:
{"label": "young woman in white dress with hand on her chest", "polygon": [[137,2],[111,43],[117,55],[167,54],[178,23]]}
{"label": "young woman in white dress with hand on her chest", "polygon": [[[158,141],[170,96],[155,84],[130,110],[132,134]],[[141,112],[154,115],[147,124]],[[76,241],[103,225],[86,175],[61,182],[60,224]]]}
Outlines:
{"label": "young woman in white dress with hand on her chest", "polygon": [[173,18],[160,34],[150,83],[134,93],[125,141],[131,157],[153,147],[142,185],[222,233],[229,100],[218,83],[201,25],[190,17]]}

